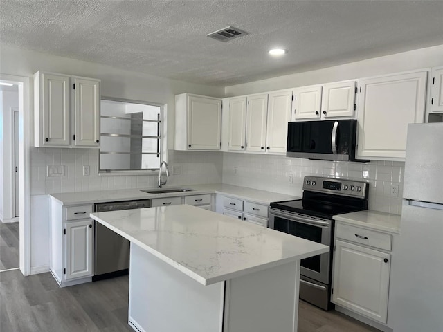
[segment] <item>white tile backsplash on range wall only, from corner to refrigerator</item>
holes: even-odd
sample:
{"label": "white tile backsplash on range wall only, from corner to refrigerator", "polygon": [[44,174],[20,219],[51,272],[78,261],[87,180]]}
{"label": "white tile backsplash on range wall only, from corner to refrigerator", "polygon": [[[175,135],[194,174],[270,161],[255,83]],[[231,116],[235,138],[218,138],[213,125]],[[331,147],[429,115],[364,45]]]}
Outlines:
{"label": "white tile backsplash on range wall only, from corner to refrigerator", "polygon": [[[301,196],[302,181],[307,175],[367,182],[370,210],[401,213],[404,175],[401,162],[352,163],[235,153],[225,153],[223,158],[223,183],[231,185]],[[398,185],[398,197],[391,195],[391,185]]]}

